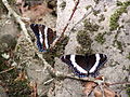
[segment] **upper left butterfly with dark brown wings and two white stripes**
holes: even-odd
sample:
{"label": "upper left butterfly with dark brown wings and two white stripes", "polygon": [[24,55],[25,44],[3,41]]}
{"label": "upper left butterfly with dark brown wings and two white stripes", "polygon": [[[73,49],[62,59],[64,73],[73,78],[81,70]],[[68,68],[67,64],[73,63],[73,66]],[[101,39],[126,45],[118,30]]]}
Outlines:
{"label": "upper left butterfly with dark brown wings and two white stripes", "polygon": [[56,38],[56,31],[41,24],[31,24],[30,28],[37,38],[39,52],[47,52],[50,50],[50,45]]}

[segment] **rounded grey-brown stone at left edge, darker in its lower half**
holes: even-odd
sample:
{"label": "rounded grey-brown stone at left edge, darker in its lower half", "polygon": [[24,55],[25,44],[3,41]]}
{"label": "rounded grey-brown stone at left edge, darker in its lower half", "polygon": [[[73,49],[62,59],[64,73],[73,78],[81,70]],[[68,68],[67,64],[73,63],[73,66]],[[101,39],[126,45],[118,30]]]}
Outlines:
{"label": "rounded grey-brown stone at left edge, darker in its lower half", "polygon": [[16,25],[13,20],[3,18],[0,20],[0,51],[4,52],[9,48],[14,48],[16,45],[17,34],[20,34],[20,30],[17,30]]}

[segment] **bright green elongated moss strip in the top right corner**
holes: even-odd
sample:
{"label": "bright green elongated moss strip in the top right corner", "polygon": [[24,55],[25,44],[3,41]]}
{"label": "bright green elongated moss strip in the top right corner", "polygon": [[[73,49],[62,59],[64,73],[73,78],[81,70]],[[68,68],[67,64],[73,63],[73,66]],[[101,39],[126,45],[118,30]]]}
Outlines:
{"label": "bright green elongated moss strip in the top right corner", "polygon": [[119,27],[118,19],[122,13],[127,12],[127,8],[130,5],[130,1],[127,2],[117,2],[117,5],[120,5],[114,14],[110,16],[109,20],[109,30],[116,30]]}

